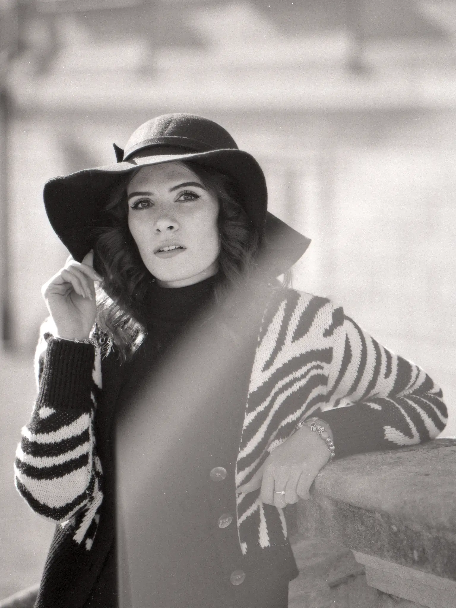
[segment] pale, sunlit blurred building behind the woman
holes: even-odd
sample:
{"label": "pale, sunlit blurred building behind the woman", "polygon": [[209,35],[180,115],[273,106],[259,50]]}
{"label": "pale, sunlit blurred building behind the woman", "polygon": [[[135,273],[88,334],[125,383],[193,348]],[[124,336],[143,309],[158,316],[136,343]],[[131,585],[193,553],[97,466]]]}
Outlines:
{"label": "pale, sunlit blurred building behind the woman", "polygon": [[2,201],[10,344],[35,344],[40,287],[66,258],[44,181],[112,162],[112,142],[122,147],[141,122],[187,111],[258,157],[271,210],[313,239],[295,286],[343,303],[456,398],[454,1],[15,7]]}

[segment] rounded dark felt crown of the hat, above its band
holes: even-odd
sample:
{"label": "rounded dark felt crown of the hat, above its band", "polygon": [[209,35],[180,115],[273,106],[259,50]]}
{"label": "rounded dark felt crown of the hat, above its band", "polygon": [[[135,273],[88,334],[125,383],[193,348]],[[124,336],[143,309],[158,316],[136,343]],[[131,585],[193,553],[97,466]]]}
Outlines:
{"label": "rounded dark felt crown of the hat, above its band", "polygon": [[195,114],[163,114],[140,125],[126,143],[124,160],[142,148],[176,146],[195,152],[237,150],[223,126]]}

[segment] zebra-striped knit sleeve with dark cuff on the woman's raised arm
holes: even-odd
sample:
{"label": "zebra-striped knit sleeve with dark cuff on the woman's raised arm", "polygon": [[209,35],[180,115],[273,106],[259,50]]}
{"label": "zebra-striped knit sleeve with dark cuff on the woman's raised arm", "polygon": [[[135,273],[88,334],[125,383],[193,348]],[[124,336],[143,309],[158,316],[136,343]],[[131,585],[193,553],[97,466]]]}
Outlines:
{"label": "zebra-striped knit sleeve with dark cuff on the woman's raised arm", "polygon": [[38,398],[16,450],[15,485],[36,513],[54,522],[101,502],[93,434],[97,359],[92,344],[50,334],[38,344]]}

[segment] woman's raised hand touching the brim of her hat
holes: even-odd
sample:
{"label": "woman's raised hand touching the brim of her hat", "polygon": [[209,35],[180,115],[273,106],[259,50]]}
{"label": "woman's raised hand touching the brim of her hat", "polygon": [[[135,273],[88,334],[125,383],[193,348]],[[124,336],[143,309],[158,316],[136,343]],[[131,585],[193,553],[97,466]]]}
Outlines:
{"label": "woman's raised hand touching the brim of her hat", "polygon": [[72,340],[89,337],[97,314],[94,281],[100,280],[93,260],[92,251],[81,263],[70,255],[64,267],[41,288],[58,337]]}

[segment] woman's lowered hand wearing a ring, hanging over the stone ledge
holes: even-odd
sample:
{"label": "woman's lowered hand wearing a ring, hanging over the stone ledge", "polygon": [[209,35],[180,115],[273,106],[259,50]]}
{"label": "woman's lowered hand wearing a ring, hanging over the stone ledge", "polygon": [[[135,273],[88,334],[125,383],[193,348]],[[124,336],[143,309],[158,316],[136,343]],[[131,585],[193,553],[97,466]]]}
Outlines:
{"label": "woman's lowered hand wearing a ring, hanging over the stone ledge", "polygon": [[[330,429],[325,425],[330,433]],[[309,498],[309,489],[320,469],[330,459],[330,451],[316,433],[303,426],[269,454],[249,482],[237,488],[247,494],[261,488],[261,500],[283,509],[288,503]],[[277,492],[283,492],[279,494]]]}

